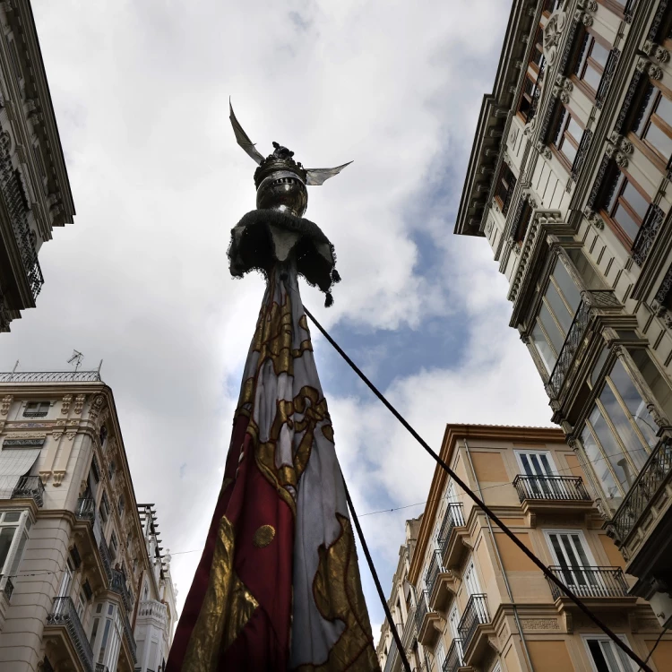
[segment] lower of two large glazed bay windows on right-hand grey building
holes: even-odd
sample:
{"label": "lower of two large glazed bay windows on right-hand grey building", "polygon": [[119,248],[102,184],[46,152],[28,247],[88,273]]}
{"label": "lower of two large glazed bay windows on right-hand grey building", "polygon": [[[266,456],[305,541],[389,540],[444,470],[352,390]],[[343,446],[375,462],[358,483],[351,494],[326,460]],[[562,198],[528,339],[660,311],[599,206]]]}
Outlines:
{"label": "lower of two large glazed bay windows on right-hand grey building", "polygon": [[656,445],[646,401],[616,360],[582,432],[583,449],[607,503],[618,508]]}

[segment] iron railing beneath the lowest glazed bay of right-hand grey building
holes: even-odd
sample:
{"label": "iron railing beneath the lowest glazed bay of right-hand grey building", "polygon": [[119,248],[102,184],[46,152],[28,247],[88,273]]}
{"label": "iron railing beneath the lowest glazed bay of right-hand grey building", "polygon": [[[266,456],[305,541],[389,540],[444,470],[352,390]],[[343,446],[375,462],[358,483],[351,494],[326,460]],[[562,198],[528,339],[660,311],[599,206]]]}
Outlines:
{"label": "iron railing beneath the lowest glazed bay of right-hand grey building", "polygon": [[672,441],[663,439],[651,452],[649,459],[628,490],[623,504],[611,521],[610,530],[616,543],[622,544],[635,527],[640,516],[672,471]]}

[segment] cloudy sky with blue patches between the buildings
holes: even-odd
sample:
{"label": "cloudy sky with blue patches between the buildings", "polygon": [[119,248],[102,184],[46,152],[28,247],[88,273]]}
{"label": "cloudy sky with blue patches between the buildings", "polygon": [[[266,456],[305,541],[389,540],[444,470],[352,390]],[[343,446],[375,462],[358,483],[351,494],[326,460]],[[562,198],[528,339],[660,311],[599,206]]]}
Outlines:
{"label": "cloudy sky with blue patches between the buildings", "polygon": [[[502,0],[33,0],[77,209],[42,247],[38,307],[3,334],[0,368],[67,368],[112,387],[139,501],[157,504],[185,599],[219,492],[263,280],[228,274],[262,153],[354,160],[310,190],[331,237],[335,305],[304,301],[439,446],[446,422],[547,425],[550,411],[487,242],[452,235]],[[314,330],[315,331],[315,330]],[[433,464],[315,338],[336,447],[359,513],[426,499]],[[403,522],[362,518],[390,586]],[[360,555],[362,562],[363,556]],[[362,566],[377,641],[383,621]]]}

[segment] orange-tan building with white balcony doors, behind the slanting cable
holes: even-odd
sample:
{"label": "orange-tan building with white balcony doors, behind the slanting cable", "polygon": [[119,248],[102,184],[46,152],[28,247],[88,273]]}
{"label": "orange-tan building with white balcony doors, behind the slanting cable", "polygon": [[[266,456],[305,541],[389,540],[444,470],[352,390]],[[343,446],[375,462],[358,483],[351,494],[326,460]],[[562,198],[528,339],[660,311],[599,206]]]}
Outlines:
{"label": "orange-tan building with white balcony doors, behind the slanting cable", "polygon": [[[623,556],[602,529],[590,480],[561,430],[449,425],[441,457],[647,658],[662,628],[650,605],[630,594],[634,578],[625,574]],[[399,603],[403,615],[408,605],[401,632],[418,672],[634,669],[438,466],[409,552],[406,583],[398,581],[398,570],[390,606]],[[400,593],[402,585],[408,598]],[[383,625],[379,644],[383,669],[400,672],[399,655],[383,643],[387,629]],[[649,664],[657,672],[672,668],[672,634],[663,634]]]}

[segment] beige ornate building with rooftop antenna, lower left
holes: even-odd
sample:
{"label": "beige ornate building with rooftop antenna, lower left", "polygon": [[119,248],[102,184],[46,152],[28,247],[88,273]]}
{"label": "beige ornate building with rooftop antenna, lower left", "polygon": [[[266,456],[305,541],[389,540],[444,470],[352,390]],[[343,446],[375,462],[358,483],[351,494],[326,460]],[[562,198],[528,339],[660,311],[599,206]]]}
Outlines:
{"label": "beige ornate building with rooftop antenna, lower left", "polygon": [[0,668],[159,672],[176,595],[99,372],[0,374]]}

